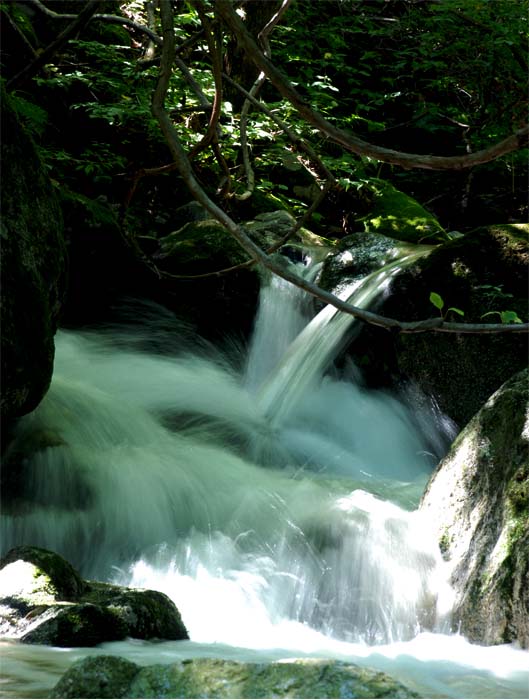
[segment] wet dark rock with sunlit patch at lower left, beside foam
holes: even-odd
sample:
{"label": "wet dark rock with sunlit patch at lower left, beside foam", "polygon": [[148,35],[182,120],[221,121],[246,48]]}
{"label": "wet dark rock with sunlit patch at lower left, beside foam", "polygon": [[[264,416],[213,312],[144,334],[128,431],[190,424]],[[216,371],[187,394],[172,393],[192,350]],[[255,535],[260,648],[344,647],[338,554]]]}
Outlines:
{"label": "wet dark rock with sunlit patch at lower left, beside foam", "polygon": [[83,581],[58,554],[12,549],[0,562],[0,635],[28,644],[187,639],[174,603],[158,591]]}

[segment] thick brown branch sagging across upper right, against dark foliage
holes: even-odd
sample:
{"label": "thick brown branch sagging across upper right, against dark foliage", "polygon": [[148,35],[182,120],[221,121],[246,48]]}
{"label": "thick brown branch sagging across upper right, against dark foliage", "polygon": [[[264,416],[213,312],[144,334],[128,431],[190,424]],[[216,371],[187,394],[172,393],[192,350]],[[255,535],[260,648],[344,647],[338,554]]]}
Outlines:
{"label": "thick brown branch sagging across upper right, against dark foliage", "polygon": [[464,156],[432,156],[417,153],[404,153],[391,148],[376,146],[364,141],[352,133],[335,127],[299,94],[290,81],[264,55],[244,23],[238,17],[231,0],[214,0],[218,15],[236,37],[239,45],[247,52],[255,65],[264,73],[274,87],[298,111],[300,116],[309,124],[316,127],[324,136],[340,144],[348,151],[357,155],[369,156],[385,163],[393,163],[403,168],[423,168],[427,170],[462,170],[474,165],[488,163],[506,153],[524,148],[529,143],[529,126],[525,125],[503,141],[476,153]]}

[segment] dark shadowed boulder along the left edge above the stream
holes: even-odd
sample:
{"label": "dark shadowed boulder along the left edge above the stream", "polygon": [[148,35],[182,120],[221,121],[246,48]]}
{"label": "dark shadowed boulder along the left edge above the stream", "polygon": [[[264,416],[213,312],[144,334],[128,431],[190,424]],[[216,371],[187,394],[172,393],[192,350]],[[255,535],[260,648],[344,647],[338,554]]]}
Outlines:
{"label": "dark shadowed boulder along the left edge above the stream", "polygon": [[51,381],[66,246],[55,189],[5,94],[1,109],[0,405],[11,419],[33,410]]}

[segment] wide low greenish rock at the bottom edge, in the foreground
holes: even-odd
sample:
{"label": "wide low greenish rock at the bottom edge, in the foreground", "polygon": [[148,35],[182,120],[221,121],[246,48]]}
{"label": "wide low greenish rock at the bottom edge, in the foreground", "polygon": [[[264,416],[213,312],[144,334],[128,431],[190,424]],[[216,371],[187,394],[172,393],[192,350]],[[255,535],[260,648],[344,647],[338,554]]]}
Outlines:
{"label": "wide low greenish rock at the bottom edge, in the foreground", "polygon": [[193,659],[140,667],[96,656],[75,663],[52,698],[416,698],[385,673],[340,661]]}

